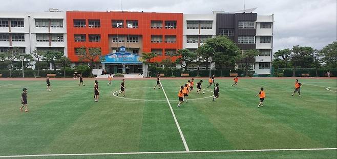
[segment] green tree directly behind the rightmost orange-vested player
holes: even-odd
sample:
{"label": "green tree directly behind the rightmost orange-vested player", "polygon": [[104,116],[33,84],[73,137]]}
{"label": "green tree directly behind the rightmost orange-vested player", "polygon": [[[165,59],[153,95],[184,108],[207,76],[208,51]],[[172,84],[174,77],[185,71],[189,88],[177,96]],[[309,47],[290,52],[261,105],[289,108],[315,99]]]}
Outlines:
{"label": "green tree directly behind the rightmost orange-vested player", "polygon": [[292,76],[295,76],[295,70],[298,67],[301,68],[311,68],[313,66],[314,59],[310,56],[313,52],[311,47],[300,47],[300,46],[293,46],[291,50],[291,64],[293,65],[293,72]]}

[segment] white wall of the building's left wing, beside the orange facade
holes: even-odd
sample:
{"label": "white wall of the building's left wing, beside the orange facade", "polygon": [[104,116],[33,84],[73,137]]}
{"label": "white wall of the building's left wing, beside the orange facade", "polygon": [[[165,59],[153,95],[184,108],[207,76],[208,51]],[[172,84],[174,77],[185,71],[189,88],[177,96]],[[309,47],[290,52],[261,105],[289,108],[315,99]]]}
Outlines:
{"label": "white wall of the building's left wing, beside the orange facade", "polygon": [[[26,54],[34,51],[36,47],[63,47],[64,54],[67,56],[67,20],[66,12],[0,12],[0,18],[23,18],[24,27],[0,27],[0,33],[24,33],[25,42],[0,42],[0,47],[25,47]],[[35,27],[35,19],[63,19],[62,28],[38,28]],[[36,33],[60,33],[64,36],[64,42],[36,42]],[[30,36],[29,36],[30,35]],[[30,40],[29,40],[30,39]],[[29,43],[30,42],[30,43]]]}

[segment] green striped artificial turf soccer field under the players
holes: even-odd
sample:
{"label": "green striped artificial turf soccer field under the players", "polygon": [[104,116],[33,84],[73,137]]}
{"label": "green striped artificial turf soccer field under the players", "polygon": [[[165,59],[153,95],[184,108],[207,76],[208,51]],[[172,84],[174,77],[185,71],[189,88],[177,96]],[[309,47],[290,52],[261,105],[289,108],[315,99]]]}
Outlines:
{"label": "green striped artificial turf soccer field under the players", "polygon": [[[195,80],[195,84],[200,80]],[[0,156],[115,152],[186,151],[156,79],[126,79],[126,97],[113,95],[120,80],[99,79],[100,102],[92,80],[0,81]],[[336,79],[300,79],[301,95],[290,96],[294,79],[217,79],[195,90],[177,108],[179,87],[187,79],[161,79],[189,151],[302,149],[337,147]],[[22,88],[30,112],[20,112]],[[264,107],[258,94],[264,87]],[[329,87],[329,88],[328,88]],[[328,90],[327,90],[328,88]],[[115,93],[116,94],[116,93]],[[28,158],[336,158],[337,150],[30,156]]]}

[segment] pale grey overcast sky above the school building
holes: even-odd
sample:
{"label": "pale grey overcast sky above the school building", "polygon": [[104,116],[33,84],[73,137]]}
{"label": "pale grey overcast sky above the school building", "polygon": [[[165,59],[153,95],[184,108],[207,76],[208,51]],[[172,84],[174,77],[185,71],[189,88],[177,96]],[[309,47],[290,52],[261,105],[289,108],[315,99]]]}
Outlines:
{"label": "pale grey overcast sky above the school building", "polygon": [[[1,0],[1,11],[120,10],[120,0]],[[322,49],[337,39],[336,0],[246,0],[258,15],[275,15],[273,51],[293,45]],[[243,10],[244,0],[122,0],[122,10],[212,14],[213,10]]]}

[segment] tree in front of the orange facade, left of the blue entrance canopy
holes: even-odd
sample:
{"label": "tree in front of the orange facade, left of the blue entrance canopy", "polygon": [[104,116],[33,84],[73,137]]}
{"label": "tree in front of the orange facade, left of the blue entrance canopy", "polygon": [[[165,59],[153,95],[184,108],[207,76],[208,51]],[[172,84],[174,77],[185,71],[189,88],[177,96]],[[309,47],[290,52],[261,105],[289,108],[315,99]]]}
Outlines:
{"label": "tree in front of the orange facade, left of the blue entrance canopy", "polygon": [[78,61],[80,62],[87,62],[90,67],[90,75],[93,76],[92,70],[94,68],[95,62],[99,62],[102,54],[102,51],[100,48],[89,48],[87,49],[85,47],[81,47],[77,49],[78,52]]}

